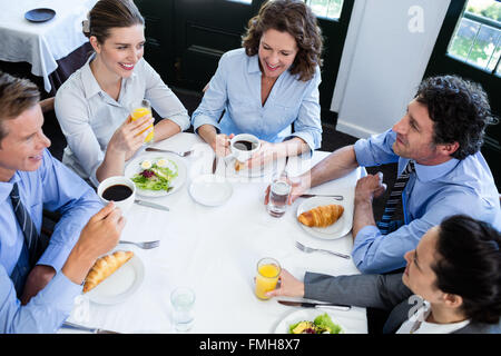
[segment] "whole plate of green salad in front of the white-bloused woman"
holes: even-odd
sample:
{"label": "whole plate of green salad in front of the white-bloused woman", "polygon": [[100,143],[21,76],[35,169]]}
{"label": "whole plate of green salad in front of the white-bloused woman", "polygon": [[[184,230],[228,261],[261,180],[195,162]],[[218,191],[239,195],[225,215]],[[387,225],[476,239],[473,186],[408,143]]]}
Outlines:
{"label": "whole plate of green salad in front of the white-bloused woman", "polygon": [[150,152],[132,159],[127,165],[124,176],[135,182],[137,195],[155,198],[179,190],[188,172],[179,157]]}

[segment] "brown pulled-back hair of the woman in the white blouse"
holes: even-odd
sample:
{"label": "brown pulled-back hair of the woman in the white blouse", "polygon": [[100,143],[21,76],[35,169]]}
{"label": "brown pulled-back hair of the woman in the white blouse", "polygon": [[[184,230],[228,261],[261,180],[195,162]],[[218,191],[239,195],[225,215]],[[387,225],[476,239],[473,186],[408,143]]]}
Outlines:
{"label": "brown pulled-back hair of the woman in the white blouse", "polygon": [[[86,22],[87,21],[87,22]],[[84,21],[84,34],[95,36],[99,43],[109,37],[111,28],[145,24],[145,19],[131,0],[99,0]]]}

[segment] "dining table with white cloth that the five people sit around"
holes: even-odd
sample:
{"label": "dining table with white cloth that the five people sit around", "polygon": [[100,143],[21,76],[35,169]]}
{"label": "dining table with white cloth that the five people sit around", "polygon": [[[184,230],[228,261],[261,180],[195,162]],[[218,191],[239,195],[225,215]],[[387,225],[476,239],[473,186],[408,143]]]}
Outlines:
{"label": "dining table with white cloth that the five people sit around", "polygon": [[[305,310],[282,305],[277,299],[258,299],[255,296],[255,276],[259,259],[276,259],[283,269],[299,280],[306,271],[333,276],[360,274],[352,258],[318,251],[306,254],[295,246],[299,241],[305,246],[351,255],[351,225],[343,236],[323,238],[308,234],[297,221],[298,208],[307,199],[297,198],[279,218],[272,217],[264,204],[273,175],[286,171],[288,177],[297,177],[330,152],[315,150],[287,160],[277,159],[266,165],[261,175],[248,177],[245,170],[235,172],[229,157],[218,158],[214,166],[213,149],[195,134],[177,134],[154,147],[189,151],[186,157],[155,152],[157,158],[176,160],[186,169],[176,182],[176,189],[167,195],[151,197],[136,192],[136,198],[168,207],[168,211],[135,204],[124,215],[126,226],[120,239],[136,243],[159,240],[159,246],[141,249],[118,244],[116,249],[134,251],[134,258],[141,265],[139,271],[136,269],[127,277],[135,279],[134,293],[118,296],[127,287],[121,284],[129,283],[121,276],[115,281],[116,289],[111,289],[111,293],[117,291],[116,299],[111,296],[107,299],[110,303],[101,303],[92,299],[90,293],[82,294],[75,299],[68,322],[127,334],[178,333],[174,328],[170,294],[177,287],[189,287],[195,291],[196,300],[194,324],[187,333],[274,334],[281,332],[278,325],[293,313]],[[151,159],[151,152],[141,149],[132,161],[137,165],[146,158]],[[213,166],[217,179],[230,187],[230,195],[216,206],[203,205],[190,188],[197,177],[213,174]],[[130,176],[127,167],[125,176]],[[360,167],[308,192],[342,195],[345,198],[344,214],[352,219],[355,185],[365,175],[365,169]],[[111,278],[114,275],[109,277],[110,283]],[[109,293],[109,286],[107,290]],[[328,313],[346,333],[367,333],[365,308],[351,307]],[[61,328],[59,333],[70,330]]]}

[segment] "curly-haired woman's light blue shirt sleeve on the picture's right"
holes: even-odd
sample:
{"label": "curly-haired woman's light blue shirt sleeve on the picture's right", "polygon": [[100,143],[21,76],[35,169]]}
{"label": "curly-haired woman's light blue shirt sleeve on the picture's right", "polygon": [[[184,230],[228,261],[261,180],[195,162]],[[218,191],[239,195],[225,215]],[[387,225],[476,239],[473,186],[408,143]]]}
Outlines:
{"label": "curly-haired woman's light blue shirt sleeve on the picture's right", "polygon": [[308,89],[301,102],[297,119],[294,121],[294,134],[289,137],[299,137],[310,147],[310,155],[322,145],[322,120],[318,86],[322,81],[318,67],[311,79]]}

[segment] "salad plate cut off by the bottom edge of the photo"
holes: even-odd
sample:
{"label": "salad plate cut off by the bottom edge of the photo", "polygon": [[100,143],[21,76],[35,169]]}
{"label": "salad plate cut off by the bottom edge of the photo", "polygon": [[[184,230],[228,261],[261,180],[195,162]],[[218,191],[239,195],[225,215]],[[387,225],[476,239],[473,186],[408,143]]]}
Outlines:
{"label": "salad plate cut off by the bottom edge of the photo", "polygon": [[[275,328],[275,334],[293,334],[292,330],[305,330],[310,327],[302,327],[299,323],[311,322],[316,328],[316,333],[313,330],[306,330],[305,334],[347,334],[347,329],[341,325],[333,313],[322,309],[301,309],[288,314],[283,318]],[[324,327],[327,326],[331,333]],[[298,327],[298,328],[296,328]]]}

